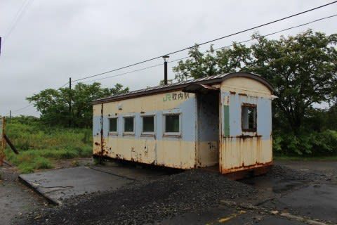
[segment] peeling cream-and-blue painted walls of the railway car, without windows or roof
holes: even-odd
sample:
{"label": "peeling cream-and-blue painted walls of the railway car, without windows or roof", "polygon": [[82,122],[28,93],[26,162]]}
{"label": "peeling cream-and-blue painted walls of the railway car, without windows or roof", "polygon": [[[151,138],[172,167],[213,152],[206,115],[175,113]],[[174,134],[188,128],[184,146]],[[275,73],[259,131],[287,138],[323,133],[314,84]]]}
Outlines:
{"label": "peeling cream-and-blue painted walls of the railway car, without windows or roof", "polygon": [[[93,105],[93,153],[100,154],[103,149],[103,155],[110,158],[181,169],[205,167],[218,162],[222,173],[270,165],[270,89],[247,77],[225,79],[217,85],[220,87],[220,99],[204,102],[205,108],[199,112],[198,94],[182,91],[103,103],[103,117],[100,115],[101,105]],[[242,130],[243,104],[256,105],[256,131]],[[218,114],[211,115],[212,112]],[[170,113],[180,115],[178,135],[164,135],[165,115]],[[143,115],[154,116],[153,134],[142,134]],[[134,117],[134,134],[124,133],[125,116]],[[117,117],[115,134],[109,133],[111,117]]]}

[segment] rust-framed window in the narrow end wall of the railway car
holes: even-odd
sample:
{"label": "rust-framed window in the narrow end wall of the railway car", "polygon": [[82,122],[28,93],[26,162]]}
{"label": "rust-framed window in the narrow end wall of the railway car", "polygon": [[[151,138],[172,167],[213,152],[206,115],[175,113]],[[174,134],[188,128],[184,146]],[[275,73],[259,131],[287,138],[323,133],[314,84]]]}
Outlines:
{"label": "rust-framed window in the narrow end wall of the railway car", "polygon": [[256,105],[244,103],[241,112],[242,131],[256,131]]}

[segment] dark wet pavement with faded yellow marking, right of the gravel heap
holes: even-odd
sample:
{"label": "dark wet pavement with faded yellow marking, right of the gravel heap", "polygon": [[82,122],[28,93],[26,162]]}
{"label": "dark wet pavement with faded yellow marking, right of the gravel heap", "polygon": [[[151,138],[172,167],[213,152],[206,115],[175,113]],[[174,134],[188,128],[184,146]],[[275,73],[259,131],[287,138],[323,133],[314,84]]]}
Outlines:
{"label": "dark wet pavement with faded yellow marking, right of the gravel heap", "polygon": [[[281,171],[280,176],[244,179],[240,182],[256,188],[257,195],[156,224],[337,224],[337,162],[282,161],[275,165],[296,169],[300,175],[282,176]],[[252,208],[247,210],[247,203]]]}

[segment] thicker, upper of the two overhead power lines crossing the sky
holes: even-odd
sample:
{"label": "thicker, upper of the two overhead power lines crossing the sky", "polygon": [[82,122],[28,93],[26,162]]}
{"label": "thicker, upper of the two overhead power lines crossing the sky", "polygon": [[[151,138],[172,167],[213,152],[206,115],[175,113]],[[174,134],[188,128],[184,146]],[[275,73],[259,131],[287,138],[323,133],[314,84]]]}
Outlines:
{"label": "thicker, upper of the two overhead power lines crossing the sky", "polygon": [[[223,36],[223,37],[218,37],[218,38],[212,39],[212,40],[210,40],[210,41],[202,42],[201,44],[196,44],[195,46],[201,46],[201,45],[204,45],[204,44],[209,44],[209,43],[211,43],[211,42],[213,42],[213,41],[218,41],[218,40],[220,40],[220,39],[225,39],[225,38],[227,38],[227,37],[232,37],[232,36],[237,35],[237,34],[241,34],[241,33],[244,33],[244,32],[250,31],[250,30],[254,30],[254,29],[256,29],[256,28],[260,28],[260,27],[264,27],[264,26],[266,26],[266,25],[270,25],[270,24],[272,24],[272,23],[277,23],[277,22],[282,21],[282,20],[286,20],[286,19],[289,19],[289,18],[293,18],[293,17],[295,17],[295,16],[297,16],[297,15],[302,15],[302,14],[304,14],[304,13],[308,13],[308,12],[310,12],[310,11],[315,11],[315,10],[317,10],[317,9],[319,9],[319,8],[323,8],[323,7],[325,7],[325,6],[329,6],[329,5],[331,5],[331,4],[336,4],[336,3],[337,3],[337,1],[332,1],[332,2],[329,3],[329,4],[324,4],[324,5],[322,5],[322,6],[317,6],[317,7],[315,7],[315,8],[310,8],[310,9],[308,9],[308,10],[306,10],[306,11],[302,11],[302,12],[300,12],[300,13],[295,13],[295,14],[293,14],[293,15],[289,15],[289,16],[286,16],[286,17],[284,17],[284,18],[280,18],[280,19],[278,19],[278,20],[273,20],[273,21],[271,21],[271,22],[263,23],[262,25],[257,25],[257,26],[255,26],[255,27],[251,27],[251,28],[248,28],[248,29],[246,29],[246,30],[241,30],[241,31],[239,31],[239,32],[235,32],[235,33],[232,33],[232,34],[227,34],[227,35],[225,35],[225,36]],[[147,59],[147,60],[143,60],[143,61],[141,61],[141,62],[139,62],[139,63],[133,63],[133,64],[131,64],[131,65],[126,65],[126,66],[124,66],[124,67],[117,68],[117,69],[114,69],[114,70],[109,70],[109,71],[106,71],[106,72],[100,72],[100,73],[95,74],[95,75],[89,75],[89,76],[87,76],[87,77],[83,77],[83,78],[80,78],[80,79],[75,79],[73,82],[77,82],[77,81],[80,81],[80,80],[83,80],[83,79],[88,79],[88,78],[91,78],[91,77],[97,77],[97,76],[100,76],[100,75],[105,75],[105,74],[107,74],[107,73],[109,73],[109,72],[114,72],[114,71],[117,71],[117,70],[122,70],[122,69],[125,69],[125,68],[130,68],[131,66],[134,66],[134,65],[139,65],[139,64],[142,64],[142,63],[147,63],[147,62],[150,62],[150,61],[152,61],[152,60],[156,60],[156,59],[158,59],[158,58],[161,58],[162,56],[165,56],[165,55],[169,56],[169,55],[172,55],[172,54],[175,54],[175,53],[179,53],[179,52],[181,52],[181,51],[186,51],[186,50],[192,49],[192,48],[194,48],[195,46],[189,46],[189,47],[184,48],[184,49],[180,49],[180,50],[177,50],[177,51],[172,51],[172,52],[170,52],[170,53],[166,53],[166,54],[163,54],[163,55],[161,55],[161,56],[157,56],[157,57],[154,57],[154,58],[150,58],[150,59]]]}

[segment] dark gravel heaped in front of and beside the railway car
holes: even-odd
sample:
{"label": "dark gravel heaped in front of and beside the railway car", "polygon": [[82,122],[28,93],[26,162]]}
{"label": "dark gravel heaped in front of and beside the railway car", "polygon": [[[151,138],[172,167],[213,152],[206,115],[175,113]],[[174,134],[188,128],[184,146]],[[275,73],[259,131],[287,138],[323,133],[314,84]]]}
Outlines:
{"label": "dark gravel heaped in front of and beside the railway car", "polygon": [[[276,165],[265,178],[319,181],[326,176]],[[15,224],[152,224],[220,200],[260,198],[253,187],[204,170],[190,170],[156,181],[136,182],[114,192],[83,195],[61,207],[24,214]]]}

